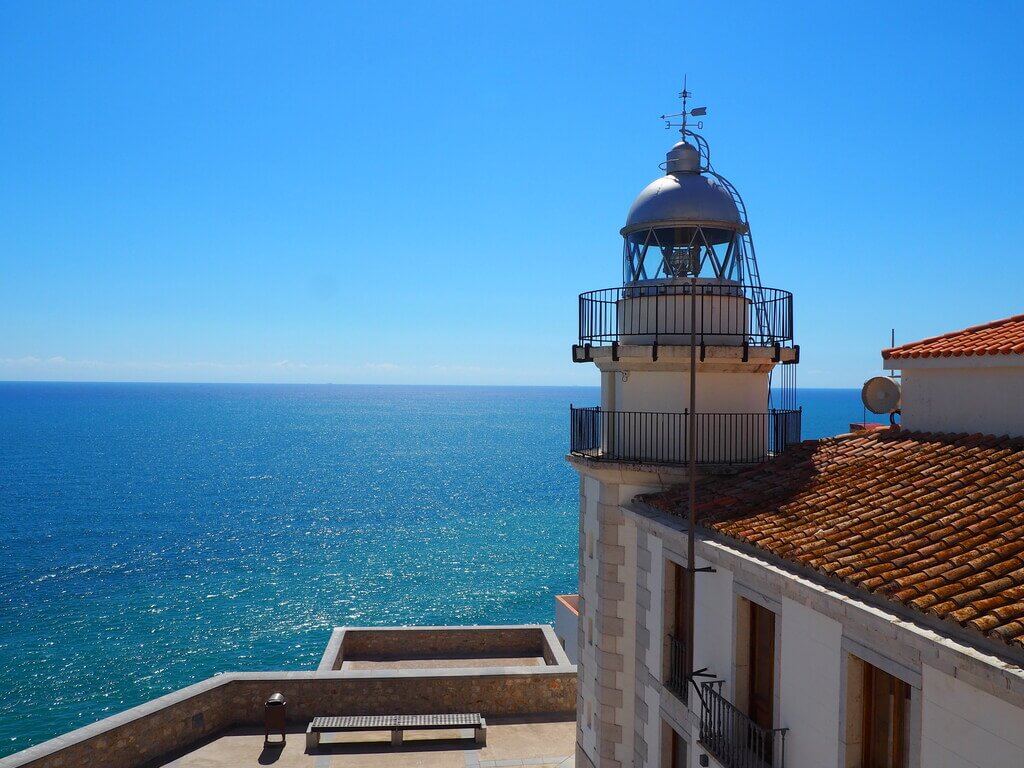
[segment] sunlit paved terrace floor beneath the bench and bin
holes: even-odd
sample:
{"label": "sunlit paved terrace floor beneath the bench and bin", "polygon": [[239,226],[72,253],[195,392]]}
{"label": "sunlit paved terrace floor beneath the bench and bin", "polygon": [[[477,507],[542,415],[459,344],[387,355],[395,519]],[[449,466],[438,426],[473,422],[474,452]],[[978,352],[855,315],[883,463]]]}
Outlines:
{"label": "sunlit paved terrace floor beneath the bench and bin", "polygon": [[284,749],[263,745],[262,731],[228,731],[176,757],[152,763],[163,768],[573,768],[575,721],[522,722],[487,719],[487,745],[473,743],[473,731],[414,731],[404,744],[390,745],[387,731],[325,734],[319,750],[306,754],[305,733],[289,732]]}

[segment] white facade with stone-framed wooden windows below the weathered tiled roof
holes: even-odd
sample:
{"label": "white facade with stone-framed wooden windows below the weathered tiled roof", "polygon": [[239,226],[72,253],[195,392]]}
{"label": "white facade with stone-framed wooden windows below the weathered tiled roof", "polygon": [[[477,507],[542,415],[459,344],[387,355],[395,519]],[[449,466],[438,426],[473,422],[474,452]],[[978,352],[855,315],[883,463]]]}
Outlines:
{"label": "white facade with stone-framed wooden windows below the weathered tiled roof", "polygon": [[[595,481],[587,484],[598,490]],[[637,489],[620,487],[624,498]],[[622,577],[624,592],[630,596],[622,609],[624,669],[615,678],[623,687],[622,699],[614,701],[622,700],[622,708],[603,709],[599,715],[621,717],[621,723],[632,727],[612,731],[622,740],[600,754],[598,736],[606,723],[589,716],[592,701],[600,700],[600,663],[609,659],[595,654],[591,660],[584,651],[581,765],[897,764],[864,761],[865,665],[906,686],[903,765],[1024,765],[1024,674],[1019,665],[1008,664],[1005,656],[979,648],[969,638],[949,637],[797,575],[784,564],[766,562],[725,538],[699,539],[697,565],[715,571],[698,577],[694,610],[696,669],[707,670],[722,683],[708,685],[713,693],[706,688],[702,696],[697,692],[702,678],[696,678],[695,685],[685,681],[673,685],[671,644],[678,601],[672,583],[686,563],[685,521],[629,502],[620,509],[621,538],[628,550],[622,557],[628,563]],[[589,564],[595,566],[593,561]],[[587,599],[582,603],[586,605]],[[752,647],[756,642],[752,610],[771,616],[766,666],[773,688],[770,722],[778,730],[768,749],[761,746],[763,741],[752,749],[755,739],[749,736],[751,662],[757,652]],[[581,616],[590,621],[586,610]],[[582,643],[586,644],[582,648],[594,647],[593,638],[585,636]],[[631,707],[625,706],[627,697]],[[705,719],[711,720],[711,727],[706,726],[702,738]],[[699,762],[701,756],[707,762]]]}

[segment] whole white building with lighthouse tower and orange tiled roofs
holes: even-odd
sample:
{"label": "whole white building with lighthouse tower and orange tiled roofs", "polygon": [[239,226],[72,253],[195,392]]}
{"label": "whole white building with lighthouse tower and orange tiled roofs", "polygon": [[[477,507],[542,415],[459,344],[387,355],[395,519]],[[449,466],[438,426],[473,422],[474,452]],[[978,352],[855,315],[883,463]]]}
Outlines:
{"label": "whole white building with lighthouse tower and orange tiled roofs", "polygon": [[1024,439],[949,433],[1024,435],[1024,317],[887,350],[903,429],[800,442],[792,297],[682,133],[581,296],[578,764],[1024,766]]}

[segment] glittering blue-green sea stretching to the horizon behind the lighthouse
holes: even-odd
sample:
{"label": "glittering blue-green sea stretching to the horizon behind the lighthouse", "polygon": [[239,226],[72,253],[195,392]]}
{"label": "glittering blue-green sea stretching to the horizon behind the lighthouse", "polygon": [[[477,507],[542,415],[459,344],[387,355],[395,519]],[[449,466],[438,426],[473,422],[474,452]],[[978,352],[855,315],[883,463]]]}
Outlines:
{"label": "glittering blue-green sea stretching to the horizon behind the lighthouse", "polygon": [[[804,436],[862,419],[801,390]],[[0,383],[0,756],[339,625],[550,622],[596,388]]]}

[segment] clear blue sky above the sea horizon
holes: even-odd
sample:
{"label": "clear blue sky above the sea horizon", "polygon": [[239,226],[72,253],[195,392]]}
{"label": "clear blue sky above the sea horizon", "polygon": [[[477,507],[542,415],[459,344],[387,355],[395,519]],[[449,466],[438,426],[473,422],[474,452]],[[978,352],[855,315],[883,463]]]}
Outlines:
{"label": "clear blue sky above the sea horizon", "polygon": [[684,73],[802,386],[1024,311],[1016,3],[4,3],[0,379],[596,384]]}

